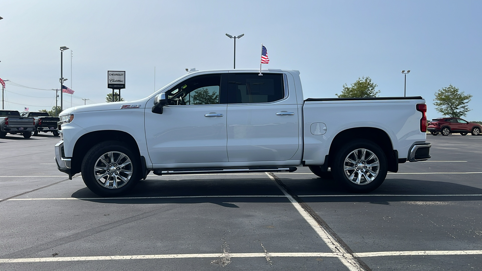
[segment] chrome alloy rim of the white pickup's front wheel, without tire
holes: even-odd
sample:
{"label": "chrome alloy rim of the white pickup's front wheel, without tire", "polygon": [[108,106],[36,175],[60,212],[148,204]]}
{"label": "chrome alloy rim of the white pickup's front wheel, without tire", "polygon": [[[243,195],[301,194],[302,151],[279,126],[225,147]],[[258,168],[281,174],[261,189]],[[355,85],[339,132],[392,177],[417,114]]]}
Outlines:
{"label": "chrome alloy rim of the white pickup's front wheel, without tire", "polygon": [[132,173],[131,159],[119,151],[104,153],[94,165],[94,177],[105,188],[116,189],[124,186],[131,179]]}

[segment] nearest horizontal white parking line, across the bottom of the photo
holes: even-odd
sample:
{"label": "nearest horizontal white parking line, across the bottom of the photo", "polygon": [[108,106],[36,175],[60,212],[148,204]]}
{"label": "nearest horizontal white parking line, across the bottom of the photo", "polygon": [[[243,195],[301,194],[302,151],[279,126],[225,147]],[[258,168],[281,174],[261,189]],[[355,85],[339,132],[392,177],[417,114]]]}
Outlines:
{"label": "nearest horizontal white parking line, across the bottom of the photo", "polygon": [[[355,253],[357,257],[383,256],[429,256],[429,255],[480,255],[482,250],[419,250],[419,251],[383,251]],[[199,254],[158,254],[158,255],[121,255],[121,256],[87,256],[87,257],[43,257],[43,258],[0,258],[0,263],[25,262],[60,262],[60,261],[95,261],[95,260],[137,260],[137,259],[172,259],[172,258],[219,258],[224,253]],[[280,252],[280,253],[229,253],[232,258],[251,257],[337,257],[343,256],[333,252]]]}

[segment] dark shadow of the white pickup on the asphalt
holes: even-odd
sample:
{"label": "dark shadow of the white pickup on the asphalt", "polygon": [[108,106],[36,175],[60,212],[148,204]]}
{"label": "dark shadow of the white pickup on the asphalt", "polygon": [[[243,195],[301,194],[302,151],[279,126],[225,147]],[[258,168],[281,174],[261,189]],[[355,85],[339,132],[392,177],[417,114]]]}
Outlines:
{"label": "dark shadow of the white pickup on the asphalt", "polygon": [[[482,189],[443,181],[389,179],[367,194],[348,193],[335,180],[281,179],[289,192],[306,203],[482,201]],[[465,196],[467,195],[467,196]],[[236,208],[235,203],[289,203],[283,192],[268,179],[148,179],[140,181],[132,193],[105,198],[87,188],[75,191],[73,198],[99,203],[157,204],[214,203]]]}

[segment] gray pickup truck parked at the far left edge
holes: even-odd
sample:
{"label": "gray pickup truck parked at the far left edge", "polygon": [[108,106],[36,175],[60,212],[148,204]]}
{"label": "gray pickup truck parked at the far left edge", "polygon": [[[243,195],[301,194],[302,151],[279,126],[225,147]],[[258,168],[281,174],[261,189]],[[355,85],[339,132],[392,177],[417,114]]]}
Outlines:
{"label": "gray pickup truck parked at the far left edge", "polygon": [[18,111],[0,110],[0,138],[4,138],[7,133],[22,134],[25,138],[30,138],[34,129],[34,118],[21,117]]}

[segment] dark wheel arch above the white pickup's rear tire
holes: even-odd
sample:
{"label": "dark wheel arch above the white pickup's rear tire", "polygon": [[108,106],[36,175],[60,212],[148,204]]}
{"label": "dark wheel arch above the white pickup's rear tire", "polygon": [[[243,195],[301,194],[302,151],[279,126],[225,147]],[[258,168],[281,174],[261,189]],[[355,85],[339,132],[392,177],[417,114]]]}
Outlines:
{"label": "dark wheel arch above the white pickup's rear tire", "polygon": [[366,139],[374,142],[385,153],[388,162],[388,171],[397,172],[398,171],[398,151],[393,149],[393,143],[388,136],[387,132],[379,128],[374,127],[356,127],[343,130],[338,133],[330,145],[330,150],[328,153],[328,166],[331,166],[333,159],[335,158],[335,153],[341,146],[346,144],[346,142],[353,139]]}

